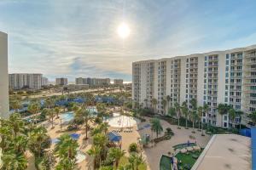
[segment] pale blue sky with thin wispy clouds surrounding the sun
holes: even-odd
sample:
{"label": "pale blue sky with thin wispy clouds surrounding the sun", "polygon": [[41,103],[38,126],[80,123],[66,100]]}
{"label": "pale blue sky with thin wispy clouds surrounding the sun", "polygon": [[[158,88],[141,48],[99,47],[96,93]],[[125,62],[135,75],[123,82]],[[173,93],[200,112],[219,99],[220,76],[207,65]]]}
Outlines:
{"label": "pale blue sky with thin wispy clouds surrounding the sun", "polygon": [[133,61],[256,44],[255,8],[255,0],[0,0],[0,31],[9,34],[9,73],[129,82]]}

